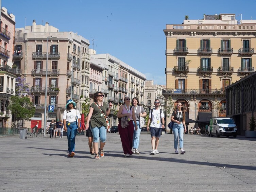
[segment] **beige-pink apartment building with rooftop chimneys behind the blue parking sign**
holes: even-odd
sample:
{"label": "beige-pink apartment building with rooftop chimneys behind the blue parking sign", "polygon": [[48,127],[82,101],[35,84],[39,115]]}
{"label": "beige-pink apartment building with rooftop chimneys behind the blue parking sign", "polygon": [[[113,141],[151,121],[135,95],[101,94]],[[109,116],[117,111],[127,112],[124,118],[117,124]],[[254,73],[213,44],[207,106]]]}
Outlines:
{"label": "beige-pink apartment building with rooftop chimneys behind the blue parking sign", "polygon": [[45,104],[54,106],[54,111],[46,115],[48,122],[56,118],[57,108],[63,114],[70,98],[80,109],[82,90],[83,97],[89,90],[88,84],[84,83],[89,76],[89,40],[77,33],[59,32],[48,22],[37,25],[35,20],[31,26],[16,29],[15,39],[15,52],[20,50],[23,53],[15,65],[30,84],[32,102],[36,107],[35,116],[25,126],[33,127],[39,121],[38,127],[44,127]]}

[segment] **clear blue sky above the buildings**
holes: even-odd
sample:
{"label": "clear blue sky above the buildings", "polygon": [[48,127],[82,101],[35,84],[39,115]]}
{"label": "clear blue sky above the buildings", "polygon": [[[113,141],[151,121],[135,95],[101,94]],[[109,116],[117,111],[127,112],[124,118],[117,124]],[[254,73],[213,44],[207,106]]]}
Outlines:
{"label": "clear blue sky above the buildings", "polygon": [[[256,1],[238,0],[2,0],[15,15],[16,28],[45,24],[59,31],[73,31],[90,41],[97,54],[109,53],[156,84],[166,84],[166,24],[181,24],[184,16],[202,19],[203,15],[242,14],[256,19]],[[241,19],[241,16],[237,16]]]}

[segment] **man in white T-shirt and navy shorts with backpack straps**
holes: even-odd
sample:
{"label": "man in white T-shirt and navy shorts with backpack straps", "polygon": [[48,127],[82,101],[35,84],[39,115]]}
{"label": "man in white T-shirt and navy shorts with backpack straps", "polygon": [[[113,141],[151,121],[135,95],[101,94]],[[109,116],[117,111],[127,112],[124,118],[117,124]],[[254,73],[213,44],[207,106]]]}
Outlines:
{"label": "man in white T-shirt and navy shorts with backpack straps", "polygon": [[151,144],[152,144],[152,151],[151,155],[159,154],[157,147],[159,144],[159,138],[161,136],[162,128],[165,128],[165,119],[164,113],[161,109],[159,109],[160,100],[156,99],[155,108],[151,109],[149,113],[149,120],[147,125],[147,130],[149,131],[149,124],[150,124],[150,133],[151,133]]}

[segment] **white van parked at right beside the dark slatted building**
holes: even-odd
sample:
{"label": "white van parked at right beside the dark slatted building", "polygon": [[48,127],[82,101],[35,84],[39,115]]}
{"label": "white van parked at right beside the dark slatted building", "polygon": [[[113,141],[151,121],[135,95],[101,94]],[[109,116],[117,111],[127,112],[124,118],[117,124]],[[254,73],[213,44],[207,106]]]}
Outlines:
{"label": "white van parked at right beside the dark slatted building", "polygon": [[220,135],[236,137],[237,127],[234,119],[225,117],[212,118],[208,126],[208,136],[213,137],[214,135],[217,137],[220,137]]}

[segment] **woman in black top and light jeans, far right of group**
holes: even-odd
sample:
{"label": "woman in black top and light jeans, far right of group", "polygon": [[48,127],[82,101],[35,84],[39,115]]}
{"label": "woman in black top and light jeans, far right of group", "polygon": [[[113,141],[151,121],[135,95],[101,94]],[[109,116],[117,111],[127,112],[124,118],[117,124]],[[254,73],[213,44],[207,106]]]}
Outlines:
{"label": "woman in black top and light jeans, far right of group", "polygon": [[174,135],[174,149],[175,154],[178,154],[178,140],[180,141],[180,149],[181,154],[186,153],[186,151],[183,149],[183,135],[184,131],[186,132],[186,115],[184,112],[183,103],[178,102],[177,103],[177,111],[172,112],[171,120],[174,122],[172,127],[172,132]]}

